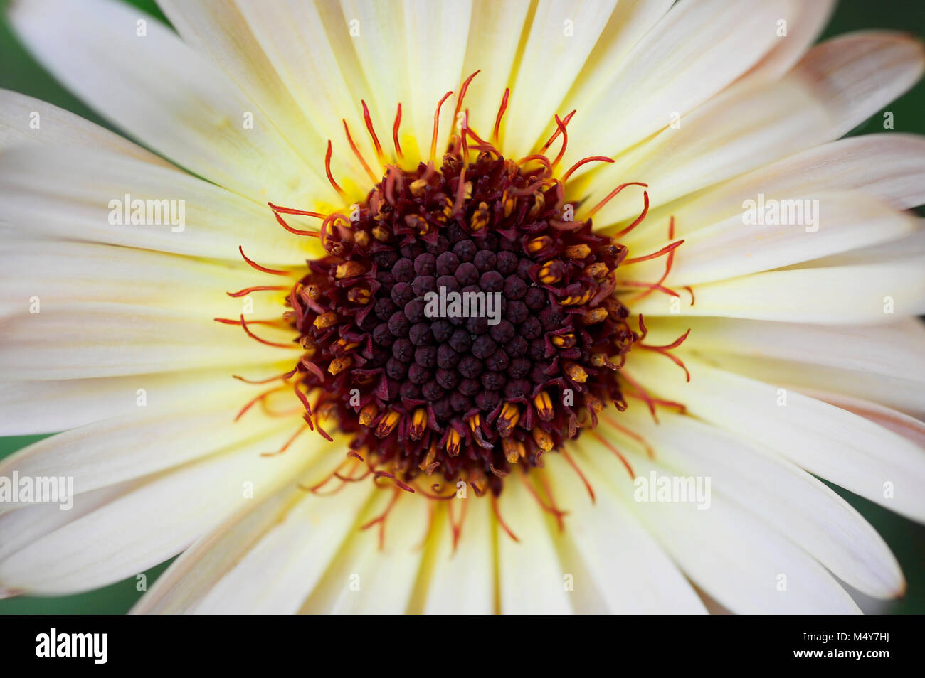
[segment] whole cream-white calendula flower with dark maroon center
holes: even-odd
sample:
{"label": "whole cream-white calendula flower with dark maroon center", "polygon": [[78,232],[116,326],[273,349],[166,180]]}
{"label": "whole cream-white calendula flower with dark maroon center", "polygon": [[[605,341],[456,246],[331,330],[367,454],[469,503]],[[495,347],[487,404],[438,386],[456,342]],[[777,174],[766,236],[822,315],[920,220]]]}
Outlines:
{"label": "whole cream-white calendula flower with dark maroon center", "polygon": [[925,142],[837,140],[919,42],[811,46],[822,1],[161,6],[9,8],[150,151],[0,96],[2,432],[64,431],[0,465],[6,595],[177,554],[137,611],[903,593],[820,478],[925,519]]}

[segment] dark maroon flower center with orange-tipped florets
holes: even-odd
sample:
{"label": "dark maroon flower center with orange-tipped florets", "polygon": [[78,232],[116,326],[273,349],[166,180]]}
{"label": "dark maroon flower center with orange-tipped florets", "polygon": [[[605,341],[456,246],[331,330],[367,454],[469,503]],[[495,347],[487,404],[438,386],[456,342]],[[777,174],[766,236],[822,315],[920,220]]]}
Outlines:
{"label": "dark maroon flower center with orange-tipped florets", "polygon": [[513,465],[625,407],[616,370],[637,335],[613,292],[626,248],[573,220],[555,164],[454,137],[438,168],[389,166],[326,221],[328,254],[292,290],[315,414],[405,489],[438,474],[498,494]]}

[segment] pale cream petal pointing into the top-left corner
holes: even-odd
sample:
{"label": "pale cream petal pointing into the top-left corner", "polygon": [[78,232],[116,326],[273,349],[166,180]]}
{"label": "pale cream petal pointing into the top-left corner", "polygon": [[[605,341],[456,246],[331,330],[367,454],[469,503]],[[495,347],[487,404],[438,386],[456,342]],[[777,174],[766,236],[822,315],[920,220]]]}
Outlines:
{"label": "pale cream petal pointing into the top-left corner", "polygon": [[38,0],[12,6],[9,18],[58,79],[180,166],[253,200],[336,199],[321,168],[303,163],[253,100],[140,10]]}

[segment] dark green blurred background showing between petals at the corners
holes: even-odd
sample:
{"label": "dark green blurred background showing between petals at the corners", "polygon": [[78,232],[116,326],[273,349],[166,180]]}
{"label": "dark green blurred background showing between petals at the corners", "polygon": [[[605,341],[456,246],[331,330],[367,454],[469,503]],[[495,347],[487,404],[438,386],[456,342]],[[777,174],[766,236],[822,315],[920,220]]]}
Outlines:
{"label": "dark green blurred background showing between petals at the corners", "polygon": [[[79,2],[80,0],[74,1]],[[141,7],[149,14],[164,19],[151,0],[126,1]],[[815,2],[815,0],[805,1]],[[0,0],[0,7],[6,8],[6,5],[6,0]],[[0,88],[30,94],[105,125],[105,121],[100,116],[62,88],[43,67],[31,58],[9,30],[5,17],[6,12],[0,18],[0,65],[2,65]],[[848,30],[863,29],[906,30],[921,38],[925,30],[925,2],[922,0],[845,0],[838,6],[823,38]],[[905,96],[887,106],[884,111],[886,110],[894,113],[894,131],[925,134],[925,83],[919,82]],[[857,127],[852,134],[882,131],[881,121],[882,112]],[[925,215],[925,211],[921,208],[919,208],[919,213]],[[42,438],[43,436],[0,438],[0,458]],[[883,539],[886,539],[906,574],[907,595],[903,599],[886,603],[885,611],[919,614],[925,612],[925,527],[894,515],[850,492],[840,488],[834,489],[848,502],[851,502],[880,532]],[[167,564],[160,564],[147,572],[149,586],[156,576],[164,571]],[[0,600],[0,613],[122,613],[128,611],[141,595],[142,593],[135,588],[135,578],[131,577],[109,587],[74,596]],[[867,606],[862,605],[862,607]]]}

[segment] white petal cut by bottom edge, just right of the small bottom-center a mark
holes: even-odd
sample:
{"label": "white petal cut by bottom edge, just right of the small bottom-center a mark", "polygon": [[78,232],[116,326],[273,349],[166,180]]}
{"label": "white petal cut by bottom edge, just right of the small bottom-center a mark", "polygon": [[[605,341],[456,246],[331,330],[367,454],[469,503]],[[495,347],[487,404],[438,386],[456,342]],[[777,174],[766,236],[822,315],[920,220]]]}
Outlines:
{"label": "white petal cut by bottom edge, just right of the small bottom-center a mark", "polygon": [[622,502],[599,487],[597,478],[588,478],[594,489],[592,500],[561,455],[549,454],[543,460],[543,475],[549,478],[557,505],[568,511],[563,530],[553,536],[559,542],[563,569],[574,573],[576,611],[706,613],[665,551]]}

